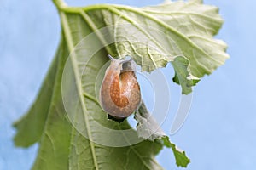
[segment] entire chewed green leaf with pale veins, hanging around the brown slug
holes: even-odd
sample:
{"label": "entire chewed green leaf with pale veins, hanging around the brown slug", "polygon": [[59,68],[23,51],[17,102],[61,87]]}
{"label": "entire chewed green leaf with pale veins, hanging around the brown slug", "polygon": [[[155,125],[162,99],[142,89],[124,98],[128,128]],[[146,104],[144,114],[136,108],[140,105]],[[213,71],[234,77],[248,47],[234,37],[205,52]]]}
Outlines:
{"label": "entire chewed green leaf with pale veins, hanging around the brown slug", "polygon": [[[189,94],[201,77],[211,74],[228,58],[225,43],[212,38],[223,23],[218,8],[194,0],[146,8],[95,5],[59,10],[62,34],[55,59],[38,98],[14,124],[17,146],[40,143],[32,168],[162,169],[155,156],[163,146],[172,148],[177,166],[187,167],[189,158],[161,130],[148,138],[143,136],[143,128],[136,132],[127,121],[108,121],[97,102],[97,81],[108,62],[107,54],[120,58],[129,55],[142,71],[172,63],[176,72],[173,81],[181,85],[183,94]],[[92,36],[94,41],[84,40],[106,26],[106,34],[100,31]],[[138,126],[146,122],[150,133],[157,125],[148,115],[142,105],[136,119]],[[130,144],[126,134],[113,138],[112,133],[102,133],[98,125],[130,130],[142,141]],[[95,139],[101,139],[100,143]],[[101,143],[105,140],[123,140],[130,145],[113,147]]]}

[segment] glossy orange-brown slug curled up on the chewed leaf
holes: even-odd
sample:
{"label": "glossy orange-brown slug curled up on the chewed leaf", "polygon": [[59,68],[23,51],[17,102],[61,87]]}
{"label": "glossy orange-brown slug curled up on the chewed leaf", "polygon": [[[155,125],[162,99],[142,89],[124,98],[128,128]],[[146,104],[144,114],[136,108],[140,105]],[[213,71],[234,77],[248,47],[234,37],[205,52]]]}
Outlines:
{"label": "glossy orange-brown slug curled up on the chewed leaf", "polygon": [[[141,103],[141,91],[135,75],[136,63],[132,59],[114,59],[105,72],[100,88],[100,105],[108,118],[125,119]],[[122,122],[122,121],[121,121]]]}

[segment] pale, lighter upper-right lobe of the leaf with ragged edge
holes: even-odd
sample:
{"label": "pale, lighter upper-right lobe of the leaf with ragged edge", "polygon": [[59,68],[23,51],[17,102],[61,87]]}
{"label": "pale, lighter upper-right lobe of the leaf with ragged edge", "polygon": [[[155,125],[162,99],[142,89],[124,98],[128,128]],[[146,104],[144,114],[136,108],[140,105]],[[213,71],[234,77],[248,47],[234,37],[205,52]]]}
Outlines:
{"label": "pale, lighter upper-right lobe of the leaf with ragged edge", "polygon": [[177,65],[178,56],[188,59],[187,68],[175,70],[182,76],[174,81],[182,85],[183,94],[189,94],[195,85],[189,83],[188,87],[183,72],[189,73],[192,82],[198,82],[229,58],[226,44],[212,38],[223,23],[218,8],[199,1],[169,2],[146,8],[91,6],[84,8],[83,13],[96,28],[114,26],[109,34],[115,37],[117,53],[120,57],[130,55],[142,66],[142,71],[154,71],[168,62]]}

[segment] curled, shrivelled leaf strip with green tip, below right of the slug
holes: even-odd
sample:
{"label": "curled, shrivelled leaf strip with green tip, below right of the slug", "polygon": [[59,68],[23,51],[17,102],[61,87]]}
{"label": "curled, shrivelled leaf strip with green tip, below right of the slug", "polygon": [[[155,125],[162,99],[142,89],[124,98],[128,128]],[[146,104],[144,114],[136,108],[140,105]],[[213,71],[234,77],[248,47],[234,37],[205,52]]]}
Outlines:
{"label": "curled, shrivelled leaf strip with green tip, below right of the slug", "polygon": [[164,133],[159,124],[155,122],[154,117],[150,116],[146,105],[142,103],[138,111],[135,114],[135,119],[137,120],[137,133],[138,136],[143,139],[148,139],[150,141],[160,141],[163,145],[168,148],[172,148],[172,152],[175,156],[176,164],[178,167],[187,167],[190,160],[186,156],[183,150],[176,147],[175,144],[169,140],[166,133]]}

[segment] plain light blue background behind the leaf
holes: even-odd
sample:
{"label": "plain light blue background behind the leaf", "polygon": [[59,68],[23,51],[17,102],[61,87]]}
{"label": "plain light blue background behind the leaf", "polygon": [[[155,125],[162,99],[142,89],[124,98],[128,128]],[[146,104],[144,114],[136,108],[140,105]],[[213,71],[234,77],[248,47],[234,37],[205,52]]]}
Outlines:
{"label": "plain light blue background behind the leaf", "polygon": [[[67,1],[69,5],[123,3],[133,6],[161,1],[98,0]],[[229,44],[230,59],[204,77],[194,88],[189,117],[174,143],[191,158],[188,169],[255,169],[256,162],[256,2],[206,0],[216,5],[225,23],[218,34]],[[0,170],[29,169],[38,145],[15,148],[12,122],[26,112],[35,99],[40,84],[53,59],[60,39],[60,21],[50,0],[0,0]],[[164,70],[170,78],[172,105],[163,128],[170,131],[177,85],[171,82],[172,69]],[[175,166],[172,151],[157,156],[166,169]]]}

